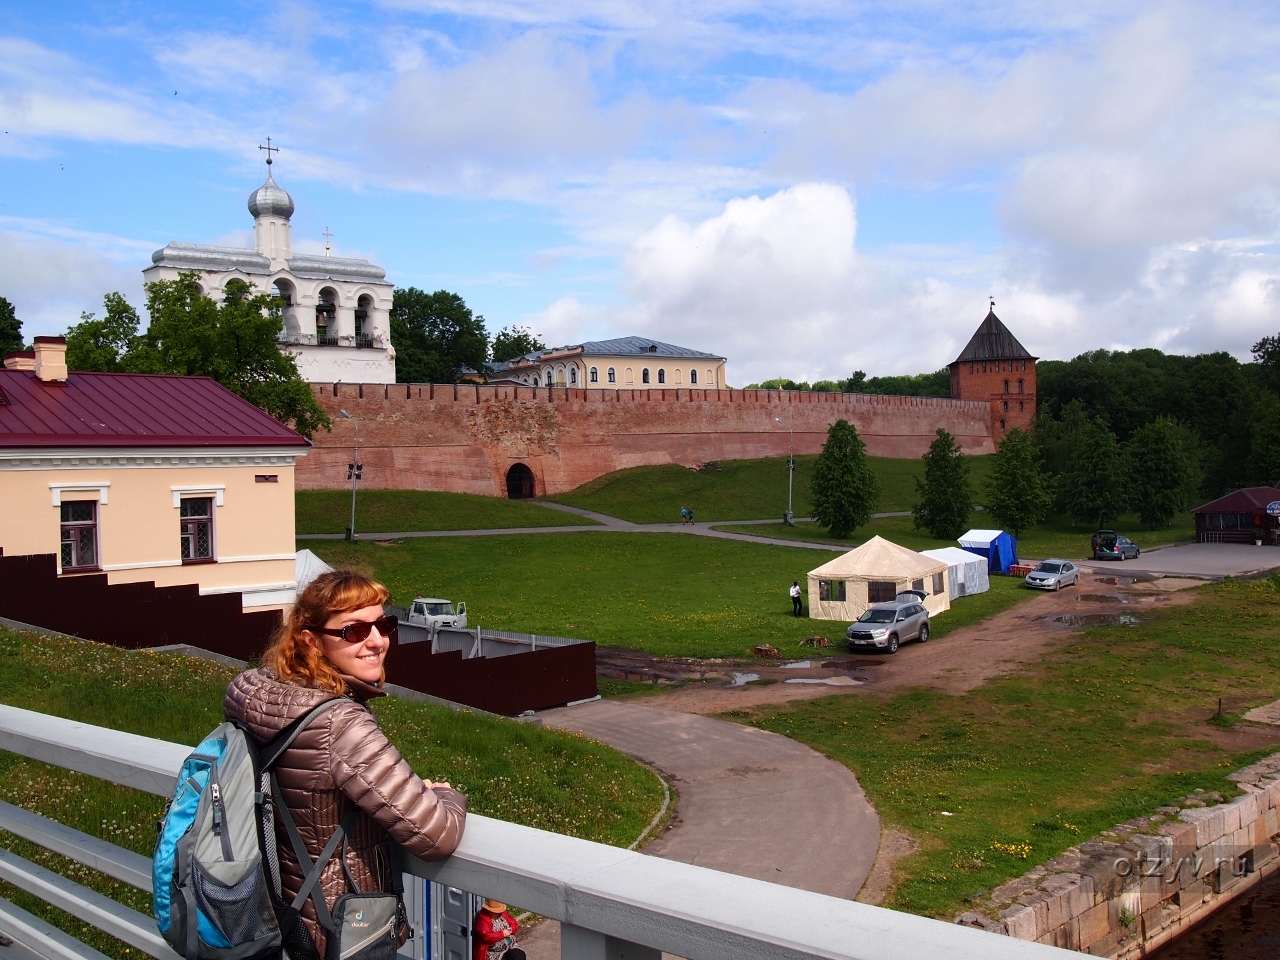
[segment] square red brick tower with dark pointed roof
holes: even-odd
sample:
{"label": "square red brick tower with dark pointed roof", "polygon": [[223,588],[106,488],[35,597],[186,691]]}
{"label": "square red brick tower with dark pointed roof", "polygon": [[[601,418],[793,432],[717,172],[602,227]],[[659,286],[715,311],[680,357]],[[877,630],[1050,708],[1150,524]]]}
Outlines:
{"label": "square red brick tower with dark pointed roof", "polygon": [[1036,422],[1036,360],[996,316],[987,319],[948,366],[952,399],[991,403],[991,435],[1000,440],[1009,430],[1029,430]]}

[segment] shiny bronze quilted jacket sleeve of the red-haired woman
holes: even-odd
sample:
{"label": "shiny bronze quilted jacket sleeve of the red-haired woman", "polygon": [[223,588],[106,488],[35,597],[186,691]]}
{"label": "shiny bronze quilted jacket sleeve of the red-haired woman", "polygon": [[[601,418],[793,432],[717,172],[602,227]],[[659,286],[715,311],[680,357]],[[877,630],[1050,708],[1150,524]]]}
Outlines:
{"label": "shiny bronze quilted jacket sleeve of the red-haired woman", "polygon": [[415,856],[452,854],[462,840],[467,799],[424,783],[366,708],[335,707],[329,730],[329,772],[338,788]]}

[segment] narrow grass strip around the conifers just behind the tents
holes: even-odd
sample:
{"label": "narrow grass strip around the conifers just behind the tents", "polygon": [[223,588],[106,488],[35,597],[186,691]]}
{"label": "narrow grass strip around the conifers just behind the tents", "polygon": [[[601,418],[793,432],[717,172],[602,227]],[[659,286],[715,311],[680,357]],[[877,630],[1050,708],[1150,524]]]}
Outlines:
{"label": "narrow grass strip around the conifers just behind the tents", "polygon": [[[973,512],[969,515],[970,527],[991,527],[991,515],[986,512]],[[750,524],[742,526],[724,525],[717,530],[732,530],[741,534],[755,534],[758,536],[776,536],[782,540],[808,540],[810,543],[828,543],[832,545],[858,547],[867,543],[873,536],[883,536],[896,544],[913,550],[931,550],[938,547],[955,547],[955,540],[934,540],[927,530],[916,530],[911,517],[878,517],[858,527],[854,535],[845,539],[831,536],[826,527],[812,521],[803,521],[795,526],[786,526],[781,521],[777,524]],[[1160,547],[1171,543],[1190,543],[1196,539],[1196,520],[1190,513],[1180,513],[1174,520],[1174,525],[1166,530],[1143,530],[1135,516],[1121,517],[1116,529],[1133,539],[1142,549]],[[1069,559],[1085,559],[1089,556],[1089,535],[1092,529],[1082,525],[1071,526],[1066,517],[1055,517],[1046,524],[1023,531],[1018,539],[1018,556],[1044,559],[1046,557],[1064,557]],[[1126,561],[1132,566],[1133,561]],[[1121,567],[1121,564],[1116,564]]]}

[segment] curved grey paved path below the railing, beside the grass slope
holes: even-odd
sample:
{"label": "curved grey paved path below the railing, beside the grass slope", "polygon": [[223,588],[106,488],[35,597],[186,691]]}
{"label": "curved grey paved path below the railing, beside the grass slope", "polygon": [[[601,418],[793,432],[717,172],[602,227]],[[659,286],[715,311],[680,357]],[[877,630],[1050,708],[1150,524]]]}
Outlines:
{"label": "curved grey paved path below the railing, beside the grass slope", "polygon": [[[678,795],[644,852],[851,900],[879,847],[879,817],[847,768],[795,740],[628,700],[545,710],[654,767]],[[559,957],[559,924],[518,937],[530,960]]]}

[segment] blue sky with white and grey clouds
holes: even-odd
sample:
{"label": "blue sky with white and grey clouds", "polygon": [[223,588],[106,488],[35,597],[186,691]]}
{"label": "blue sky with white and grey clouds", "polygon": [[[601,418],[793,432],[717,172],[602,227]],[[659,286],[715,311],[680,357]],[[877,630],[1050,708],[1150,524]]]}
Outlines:
{"label": "blue sky with white and grey clouds", "polygon": [[170,239],[448,288],[492,330],[639,333],[735,384],[932,370],[995,296],[1032,349],[1280,330],[1263,4],[10,3],[0,296],[60,333]]}

